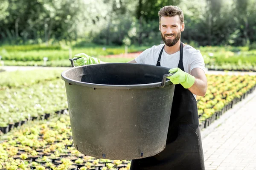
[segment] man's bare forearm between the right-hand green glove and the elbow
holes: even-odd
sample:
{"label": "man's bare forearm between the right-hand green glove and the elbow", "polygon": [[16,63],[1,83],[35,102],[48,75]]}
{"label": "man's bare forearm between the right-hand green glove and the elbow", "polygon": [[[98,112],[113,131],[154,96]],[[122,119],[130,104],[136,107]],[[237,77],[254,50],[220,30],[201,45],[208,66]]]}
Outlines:
{"label": "man's bare forearm between the right-hand green glove and the elbow", "polygon": [[201,79],[195,78],[194,84],[191,86],[191,88],[188,88],[189,91],[191,91],[192,94],[198,95],[198,96],[204,96],[207,91],[207,82],[204,82]]}

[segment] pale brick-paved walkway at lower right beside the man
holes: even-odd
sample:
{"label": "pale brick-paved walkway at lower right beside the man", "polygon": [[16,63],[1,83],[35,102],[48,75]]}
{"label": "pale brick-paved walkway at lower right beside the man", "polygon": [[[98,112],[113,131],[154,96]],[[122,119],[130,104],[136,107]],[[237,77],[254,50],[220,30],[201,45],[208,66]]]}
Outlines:
{"label": "pale brick-paved walkway at lower right beside the man", "polygon": [[206,170],[256,170],[256,91],[201,134]]}

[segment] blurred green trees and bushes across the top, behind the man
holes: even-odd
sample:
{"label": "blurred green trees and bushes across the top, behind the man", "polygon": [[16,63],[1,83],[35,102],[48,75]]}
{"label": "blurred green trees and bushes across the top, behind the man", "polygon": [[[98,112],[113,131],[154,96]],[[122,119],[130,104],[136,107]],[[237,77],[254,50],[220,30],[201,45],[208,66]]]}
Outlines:
{"label": "blurred green trees and bushes across the top, behind the man", "polygon": [[255,48],[255,0],[1,0],[1,44],[155,45],[159,9],[185,15],[182,41]]}

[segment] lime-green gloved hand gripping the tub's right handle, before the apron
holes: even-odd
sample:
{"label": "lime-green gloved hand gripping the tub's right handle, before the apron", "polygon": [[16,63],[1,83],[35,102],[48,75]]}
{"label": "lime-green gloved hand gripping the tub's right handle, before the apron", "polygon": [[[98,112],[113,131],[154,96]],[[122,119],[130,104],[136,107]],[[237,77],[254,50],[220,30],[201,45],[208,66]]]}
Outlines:
{"label": "lime-green gloved hand gripping the tub's right handle, before the apron", "polygon": [[180,70],[180,68],[172,68],[169,72],[170,74],[175,73],[172,76],[167,77],[175,85],[181,84],[184,88],[190,88],[195,82],[194,76]]}

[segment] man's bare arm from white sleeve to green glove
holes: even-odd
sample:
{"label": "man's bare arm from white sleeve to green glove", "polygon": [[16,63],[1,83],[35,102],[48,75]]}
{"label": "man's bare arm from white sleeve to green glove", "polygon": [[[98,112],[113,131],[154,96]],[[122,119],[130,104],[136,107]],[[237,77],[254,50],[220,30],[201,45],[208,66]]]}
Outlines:
{"label": "man's bare arm from white sleeve to green glove", "polygon": [[201,68],[194,68],[191,75],[195,77],[195,83],[189,88],[192,94],[204,96],[207,91],[207,78]]}

